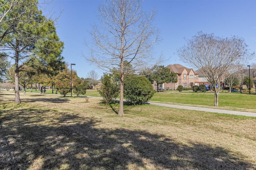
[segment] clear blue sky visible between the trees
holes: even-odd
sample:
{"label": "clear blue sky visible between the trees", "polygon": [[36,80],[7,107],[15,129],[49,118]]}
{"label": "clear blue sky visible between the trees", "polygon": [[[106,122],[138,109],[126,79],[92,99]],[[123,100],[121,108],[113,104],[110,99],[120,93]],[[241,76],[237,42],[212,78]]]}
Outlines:
{"label": "clear blue sky visible between the trees", "polygon": [[[55,14],[62,13],[56,23],[57,34],[64,42],[64,60],[76,65],[79,77],[87,78],[88,72],[102,70],[86,62],[85,41],[90,41],[89,31],[98,24],[98,7],[102,0],[53,0]],[[50,5],[45,12],[50,9]],[[191,39],[198,31],[214,33],[220,37],[233,35],[244,38],[250,52],[256,51],[256,0],[144,0],[143,10],[157,10],[154,24],[160,29],[162,41],[155,46],[168,60],[162,65],[182,64],[175,55],[177,49],[186,45],[184,37]],[[248,64],[256,63],[253,59]]]}

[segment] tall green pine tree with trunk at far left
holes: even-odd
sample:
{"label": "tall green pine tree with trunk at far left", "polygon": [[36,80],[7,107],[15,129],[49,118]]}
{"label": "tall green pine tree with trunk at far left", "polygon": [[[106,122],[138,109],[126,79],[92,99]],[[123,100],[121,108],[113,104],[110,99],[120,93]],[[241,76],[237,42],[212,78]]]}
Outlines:
{"label": "tall green pine tree with trunk at far left", "polygon": [[[54,22],[42,15],[38,10],[37,0],[16,1],[3,18],[0,24],[1,37],[0,46],[3,50],[10,53],[8,55],[14,60],[15,70],[15,102],[20,103],[19,95],[19,72],[24,65],[33,63],[33,66],[41,65],[39,68],[50,70],[58,66],[62,61],[60,53],[63,49],[63,43],[59,41],[56,35]],[[8,6],[5,4],[4,7]],[[0,13],[4,8],[1,7]],[[14,20],[13,20],[14,19]],[[11,24],[14,22],[15,24]],[[8,33],[5,31],[8,30]],[[57,61],[57,62],[56,62]],[[56,69],[53,69],[56,70]]]}

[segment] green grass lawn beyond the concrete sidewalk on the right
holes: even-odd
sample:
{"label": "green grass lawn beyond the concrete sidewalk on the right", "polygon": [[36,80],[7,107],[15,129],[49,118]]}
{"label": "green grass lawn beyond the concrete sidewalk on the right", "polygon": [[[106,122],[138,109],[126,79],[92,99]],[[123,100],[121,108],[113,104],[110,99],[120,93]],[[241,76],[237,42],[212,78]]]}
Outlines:
{"label": "green grass lawn beyond the concrete sidewalk on the right", "polygon": [[158,92],[150,99],[152,102],[184,104],[199,107],[231,109],[256,112],[256,94],[220,92],[219,106],[214,107],[214,92]]}

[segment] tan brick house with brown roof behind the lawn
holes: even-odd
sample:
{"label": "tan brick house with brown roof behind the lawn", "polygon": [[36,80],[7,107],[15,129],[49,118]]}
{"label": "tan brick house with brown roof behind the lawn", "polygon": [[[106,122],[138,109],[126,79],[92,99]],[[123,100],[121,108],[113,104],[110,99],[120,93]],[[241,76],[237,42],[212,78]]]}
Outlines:
{"label": "tan brick house with brown roof behind the lawn", "polygon": [[182,85],[184,88],[192,88],[194,85],[199,86],[198,74],[192,68],[186,68],[180,64],[170,64],[166,66],[170,68],[170,71],[175,72],[178,75],[177,83],[164,83],[160,84],[160,87],[169,89],[177,89],[179,85]]}

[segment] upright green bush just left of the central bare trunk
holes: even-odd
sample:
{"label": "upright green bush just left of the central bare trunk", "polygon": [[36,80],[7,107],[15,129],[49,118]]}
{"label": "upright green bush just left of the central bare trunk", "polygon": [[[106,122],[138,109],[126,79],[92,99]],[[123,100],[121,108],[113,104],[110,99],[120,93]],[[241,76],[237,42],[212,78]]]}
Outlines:
{"label": "upright green bush just left of the central bare trunk", "polygon": [[102,86],[99,90],[105,104],[110,104],[119,94],[118,83],[115,81],[113,74],[104,73],[101,77]]}

